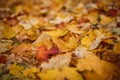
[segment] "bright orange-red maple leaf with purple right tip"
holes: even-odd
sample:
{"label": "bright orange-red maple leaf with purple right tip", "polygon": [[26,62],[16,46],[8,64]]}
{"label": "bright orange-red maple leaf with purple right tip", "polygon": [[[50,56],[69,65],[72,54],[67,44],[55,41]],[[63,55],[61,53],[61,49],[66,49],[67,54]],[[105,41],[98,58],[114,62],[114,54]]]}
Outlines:
{"label": "bright orange-red maple leaf with purple right tip", "polygon": [[46,46],[40,46],[37,48],[37,56],[38,60],[47,61],[50,55],[55,55],[59,53],[59,49],[57,47],[53,47],[50,50],[47,50]]}

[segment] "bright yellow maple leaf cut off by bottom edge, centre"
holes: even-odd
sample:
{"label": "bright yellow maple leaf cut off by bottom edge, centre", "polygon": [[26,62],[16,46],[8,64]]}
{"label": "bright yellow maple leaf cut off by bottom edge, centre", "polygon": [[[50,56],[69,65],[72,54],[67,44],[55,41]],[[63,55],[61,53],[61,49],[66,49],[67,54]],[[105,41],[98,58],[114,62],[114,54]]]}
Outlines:
{"label": "bright yellow maple leaf cut off by bottom edge, centre", "polygon": [[38,73],[37,75],[41,80],[83,80],[77,69],[71,67],[63,67],[61,70],[54,68]]}

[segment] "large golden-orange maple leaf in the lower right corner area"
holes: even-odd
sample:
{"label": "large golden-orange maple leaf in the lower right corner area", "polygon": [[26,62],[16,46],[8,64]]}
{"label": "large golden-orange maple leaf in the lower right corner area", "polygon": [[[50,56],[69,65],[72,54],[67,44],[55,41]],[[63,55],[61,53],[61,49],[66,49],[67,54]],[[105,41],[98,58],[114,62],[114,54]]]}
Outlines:
{"label": "large golden-orange maple leaf in the lower right corner area", "polygon": [[78,60],[77,68],[79,71],[93,71],[99,75],[100,78],[104,79],[113,74],[115,69],[113,64],[100,60],[95,54],[85,55],[84,58]]}

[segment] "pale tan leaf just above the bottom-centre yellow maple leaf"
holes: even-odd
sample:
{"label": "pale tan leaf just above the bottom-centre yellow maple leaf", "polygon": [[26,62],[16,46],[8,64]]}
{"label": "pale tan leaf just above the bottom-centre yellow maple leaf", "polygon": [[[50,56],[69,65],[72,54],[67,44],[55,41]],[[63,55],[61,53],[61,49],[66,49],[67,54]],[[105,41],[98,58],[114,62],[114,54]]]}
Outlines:
{"label": "pale tan leaf just above the bottom-centre yellow maple leaf", "polygon": [[43,62],[40,67],[43,69],[62,68],[68,66],[70,61],[71,53],[66,53],[52,57],[48,62]]}

